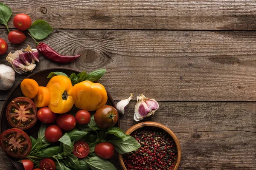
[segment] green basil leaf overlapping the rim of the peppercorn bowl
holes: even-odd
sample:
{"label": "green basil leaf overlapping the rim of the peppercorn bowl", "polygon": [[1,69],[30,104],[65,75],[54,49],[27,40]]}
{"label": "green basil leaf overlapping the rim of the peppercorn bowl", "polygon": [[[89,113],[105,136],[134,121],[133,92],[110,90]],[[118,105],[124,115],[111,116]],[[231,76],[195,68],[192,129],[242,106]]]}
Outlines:
{"label": "green basil leaf overlapping the rim of the peppercorn bowl", "polygon": [[125,138],[120,138],[118,140],[109,141],[115,145],[116,152],[120,154],[128,153],[140,148],[140,144],[133,137],[127,135]]}

